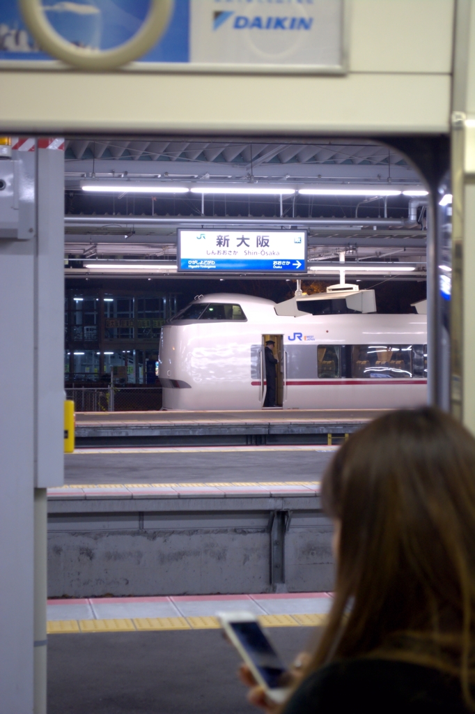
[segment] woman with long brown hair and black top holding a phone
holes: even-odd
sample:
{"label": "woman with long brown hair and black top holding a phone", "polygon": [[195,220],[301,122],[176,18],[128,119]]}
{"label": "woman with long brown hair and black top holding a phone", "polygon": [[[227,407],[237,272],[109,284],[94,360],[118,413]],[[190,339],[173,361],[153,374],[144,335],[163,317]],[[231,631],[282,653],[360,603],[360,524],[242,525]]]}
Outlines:
{"label": "woman with long brown hair and black top holding a phone", "polygon": [[475,439],[435,408],[382,416],[337,451],[322,505],[334,600],[282,712],[474,711]]}

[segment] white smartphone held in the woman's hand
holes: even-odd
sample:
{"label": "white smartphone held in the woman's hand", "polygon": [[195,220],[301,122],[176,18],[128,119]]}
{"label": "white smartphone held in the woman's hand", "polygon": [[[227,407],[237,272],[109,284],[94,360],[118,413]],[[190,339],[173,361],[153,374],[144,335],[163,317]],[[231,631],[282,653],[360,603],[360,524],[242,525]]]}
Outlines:
{"label": "white smartphone held in the woman's hand", "polygon": [[265,687],[267,696],[277,704],[285,701],[290,693],[287,669],[255,615],[246,612],[218,613],[218,618],[257,684]]}

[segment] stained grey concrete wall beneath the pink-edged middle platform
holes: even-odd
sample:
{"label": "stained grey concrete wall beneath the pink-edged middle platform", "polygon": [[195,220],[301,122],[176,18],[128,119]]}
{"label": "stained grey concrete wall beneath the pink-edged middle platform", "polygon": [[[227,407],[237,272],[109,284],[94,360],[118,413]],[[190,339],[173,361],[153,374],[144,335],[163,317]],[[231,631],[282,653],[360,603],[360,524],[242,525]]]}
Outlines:
{"label": "stained grey concrete wall beneath the pink-edged middle platform", "polygon": [[[188,501],[188,504],[185,503]],[[320,499],[50,502],[48,596],[330,590],[332,526]],[[82,506],[82,508],[81,508]],[[140,508],[132,511],[131,508]],[[148,510],[148,508],[153,510]],[[160,510],[158,510],[160,508]],[[56,511],[56,512],[51,512]],[[290,512],[285,583],[272,585],[271,514]],[[275,546],[274,546],[275,547]]]}

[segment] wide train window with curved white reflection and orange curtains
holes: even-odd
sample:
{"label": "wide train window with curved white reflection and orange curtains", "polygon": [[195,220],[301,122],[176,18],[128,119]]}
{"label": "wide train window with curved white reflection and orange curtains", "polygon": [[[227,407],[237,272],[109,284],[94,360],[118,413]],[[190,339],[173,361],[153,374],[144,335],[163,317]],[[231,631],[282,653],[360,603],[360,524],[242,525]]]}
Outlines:
{"label": "wide train window with curved white reflection and orange curtains", "polygon": [[412,377],[412,345],[354,345],[352,352],[353,377]]}

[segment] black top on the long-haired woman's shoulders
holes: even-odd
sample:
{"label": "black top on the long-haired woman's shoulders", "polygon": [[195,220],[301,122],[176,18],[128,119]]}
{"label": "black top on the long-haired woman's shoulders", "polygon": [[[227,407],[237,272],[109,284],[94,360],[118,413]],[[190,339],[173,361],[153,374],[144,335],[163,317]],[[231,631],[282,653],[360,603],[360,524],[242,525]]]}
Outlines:
{"label": "black top on the long-haired woman's shoulders", "polygon": [[358,658],[325,665],[305,679],[284,714],[468,713],[460,683],[440,670]]}

